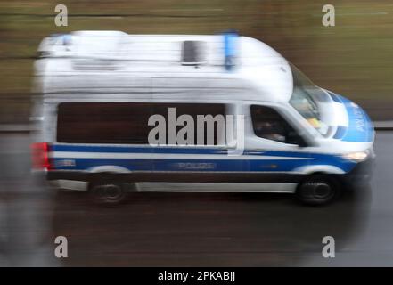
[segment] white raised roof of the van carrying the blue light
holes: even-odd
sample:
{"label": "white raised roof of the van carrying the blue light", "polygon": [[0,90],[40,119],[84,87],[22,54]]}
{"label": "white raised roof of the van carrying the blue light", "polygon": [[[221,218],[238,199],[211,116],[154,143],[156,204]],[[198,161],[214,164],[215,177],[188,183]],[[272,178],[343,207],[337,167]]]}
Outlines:
{"label": "white raised roof of the van carrying the blue light", "polygon": [[[257,39],[230,36],[232,50],[225,35],[128,35],[119,31],[54,35],[38,47],[43,58],[36,62],[36,75],[44,94],[211,86],[258,93],[252,98],[243,93],[236,99],[288,102],[292,92],[288,62]],[[184,60],[190,51],[198,54]],[[228,56],[232,69],[225,61]],[[197,60],[190,62],[190,58]]]}

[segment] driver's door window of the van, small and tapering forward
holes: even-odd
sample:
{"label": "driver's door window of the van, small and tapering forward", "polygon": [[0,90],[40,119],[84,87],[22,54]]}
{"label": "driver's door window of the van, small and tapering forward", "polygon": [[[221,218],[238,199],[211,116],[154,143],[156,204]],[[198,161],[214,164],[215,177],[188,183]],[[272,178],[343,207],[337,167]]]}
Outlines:
{"label": "driver's door window of the van, small and tapering forward", "polygon": [[296,131],[273,108],[251,105],[254,133],[261,138],[291,144],[304,143]]}

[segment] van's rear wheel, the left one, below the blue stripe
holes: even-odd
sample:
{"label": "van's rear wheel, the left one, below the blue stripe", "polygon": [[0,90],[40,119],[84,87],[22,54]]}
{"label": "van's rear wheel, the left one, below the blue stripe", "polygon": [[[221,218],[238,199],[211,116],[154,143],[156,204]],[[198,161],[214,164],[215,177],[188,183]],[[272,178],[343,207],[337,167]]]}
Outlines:
{"label": "van's rear wheel, the left one, below the blue stripe", "polygon": [[124,183],[114,179],[102,179],[90,183],[89,194],[94,203],[101,205],[118,205],[127,197]]}

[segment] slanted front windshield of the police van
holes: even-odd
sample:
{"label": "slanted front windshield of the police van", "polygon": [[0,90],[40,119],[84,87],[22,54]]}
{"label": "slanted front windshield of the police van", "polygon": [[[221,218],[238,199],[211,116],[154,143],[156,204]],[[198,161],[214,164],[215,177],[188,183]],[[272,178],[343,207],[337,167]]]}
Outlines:
{"label": "slanted front windshield of the police van", "polygon": [[323,90],[308,79],[299,69],[291,64],[293,77],[293,91],[290,104],[298,110],[303,118],[320,134],[327,133],[327,126],[323,123],[319,102],[326,97]]}

